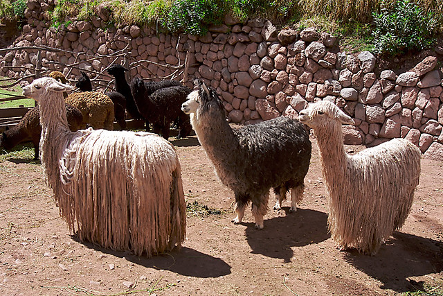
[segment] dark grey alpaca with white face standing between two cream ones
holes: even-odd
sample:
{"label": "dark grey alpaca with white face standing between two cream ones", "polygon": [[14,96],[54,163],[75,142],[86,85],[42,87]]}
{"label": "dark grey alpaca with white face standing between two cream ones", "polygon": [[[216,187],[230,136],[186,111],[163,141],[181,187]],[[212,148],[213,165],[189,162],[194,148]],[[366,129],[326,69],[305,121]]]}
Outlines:
{"label": "dark grey alpaca with white face standing between two cream ones", "polygon": [[311,159],[311,141],[303,125],[278,117],[233,130],[215,90],[201,81],[196,87],[182,109],[190,114],[192,128],[221,182],[235,193],[233,222],[242,222],[244,209],[252,202],[255,227],[262,229],[271,188],[277,209],[291,189],[291,211],[296,211]]}

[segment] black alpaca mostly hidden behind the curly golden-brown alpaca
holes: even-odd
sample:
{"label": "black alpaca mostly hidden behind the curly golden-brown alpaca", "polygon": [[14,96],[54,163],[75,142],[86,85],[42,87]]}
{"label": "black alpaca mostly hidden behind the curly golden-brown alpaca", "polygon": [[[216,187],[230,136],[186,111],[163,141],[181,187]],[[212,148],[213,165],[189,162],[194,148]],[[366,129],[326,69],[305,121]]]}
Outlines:
{"label": "black alpaca mostly hidden behind the curly golden-brown alpaca", "polygon": [[[92,84],[91,80],[87,76],[87,73],[80,71],[82,73],[82,77],[78,78],[78,81],[75,82],[75,86],[78,87],[82,92],[92,92]],[[109,96],[111,98],[112,103],[114,103],[114,116],[118,125],[120,125],[120,130],[126,130],[126,121],[125,121],[125,109],[126,109],[126,98],[123,94],[119,92],[106,92],[105,96]]]}

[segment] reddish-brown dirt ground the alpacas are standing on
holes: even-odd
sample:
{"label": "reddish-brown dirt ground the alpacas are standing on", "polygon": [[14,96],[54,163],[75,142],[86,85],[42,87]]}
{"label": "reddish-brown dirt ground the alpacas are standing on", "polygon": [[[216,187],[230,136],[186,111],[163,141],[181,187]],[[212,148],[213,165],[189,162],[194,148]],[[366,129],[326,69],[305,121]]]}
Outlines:
{"label": "reddish-brown dirt ground the alpacas are standing on", "polygon": [[[412,212],[376,256],[340,252],[327,232],[318,149],[295,214],[233,225],[233,193],[195,136],[172,140],[189,204],[181,250],[138,258],[69,234],[31,159],[0,161],[0,295],[443,295],[443,163],[422,159]],[[350,153],[363,149],[347,146]],[[415,294],[418,295],[418,294]]]}

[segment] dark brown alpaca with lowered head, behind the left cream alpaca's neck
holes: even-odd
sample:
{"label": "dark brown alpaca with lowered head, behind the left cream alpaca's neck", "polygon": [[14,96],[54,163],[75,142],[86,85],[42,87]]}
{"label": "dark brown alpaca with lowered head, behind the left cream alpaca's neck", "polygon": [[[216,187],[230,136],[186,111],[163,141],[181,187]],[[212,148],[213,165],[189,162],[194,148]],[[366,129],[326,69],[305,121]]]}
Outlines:
{"label": "dark brown alpaca with lowered head, behind the left cream alpaca's neck", "polygon": [[[65,106],[69,129],[75,132],[82,126],[82,112],[69,104]],[[34,159],[38,159],[41,134],[42,125],[40,125],[39,107],[37,106],[26,112],[25,116],[15,127],[0,134],[0,147],[10,150],[18,143],[30,139],[34,145]]]}

